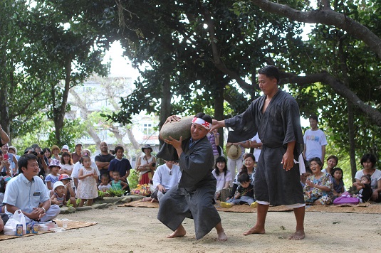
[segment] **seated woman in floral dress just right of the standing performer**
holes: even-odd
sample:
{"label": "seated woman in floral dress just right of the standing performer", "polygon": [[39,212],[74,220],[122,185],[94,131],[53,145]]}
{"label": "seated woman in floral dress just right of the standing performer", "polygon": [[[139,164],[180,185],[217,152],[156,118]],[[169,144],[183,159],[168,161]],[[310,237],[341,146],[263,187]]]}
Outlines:
{"label": "seated woman in floral dress just right of the standing performer", "polygon": [[330,174],[321,172],[323,163],[320,158],[312,158],[308,163],[313,175],[307,178],[306,185],[303,188],[306,204],[332,204],[333,183],[330,179]]}

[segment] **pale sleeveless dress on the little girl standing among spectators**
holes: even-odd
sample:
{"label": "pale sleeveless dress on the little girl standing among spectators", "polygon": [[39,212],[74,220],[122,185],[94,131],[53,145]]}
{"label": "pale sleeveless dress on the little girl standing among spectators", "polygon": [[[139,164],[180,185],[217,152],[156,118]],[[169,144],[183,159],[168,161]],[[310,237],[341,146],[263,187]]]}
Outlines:
{"label": "pale sleeveless dress on the little girl standing among spectators", "polygon": [[[82,167],[83,176],[88,175],[90,173],[95,173],[94,168],[91,168],[88,171],[86,168]],[[99,175],[98,175],[99,176]],[[93,198],[98,197],[98,188],[97,188],[97,180],[93,178],[93,176],[88,176],[83,179],[78,179],[78,190],[75,198],[80,198],[82,200],[92,200]]]}

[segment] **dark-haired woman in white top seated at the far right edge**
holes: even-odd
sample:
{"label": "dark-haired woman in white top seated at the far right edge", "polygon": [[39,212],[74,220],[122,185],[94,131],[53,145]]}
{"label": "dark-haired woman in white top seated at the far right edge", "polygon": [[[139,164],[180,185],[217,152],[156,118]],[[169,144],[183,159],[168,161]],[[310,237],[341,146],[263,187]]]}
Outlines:
{"label": "dark-haired woman in white top seated at the far right edge", "polygon": [[381,171],[375,168],[377,158],[373,154],[365,154],[362,156],[360,163],[363,167],[361,171],[357,171],[355,179],[357,183],[361,183],[361,177],[370,175],[370,188],[372,188],[372,200],[376,203],[381,202]]}

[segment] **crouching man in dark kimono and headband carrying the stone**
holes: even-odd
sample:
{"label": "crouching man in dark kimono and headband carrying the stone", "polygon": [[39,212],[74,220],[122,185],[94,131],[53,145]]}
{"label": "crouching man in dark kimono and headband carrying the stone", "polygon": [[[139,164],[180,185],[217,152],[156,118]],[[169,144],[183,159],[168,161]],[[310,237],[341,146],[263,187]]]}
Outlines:
{"label": "crouching man in dark kimono and headband carrying the stone", "polygon": [[[171,116],[165,124],[178,121]],[[212,127],[212,118],[204,113],[197,114],[191,126],[191,138],[182,141],[165,139],[157,157],[167,161],[179,160],[182,177],[178,185],[168,190],[160,200],[157,218],[172,231],[168,238],[183,237],[186,231],[182,221],[188,217],[194,220],[196,239],[207,235],[213,227],[217,240],[226,241],[221,218],[212,201],[216,191],[216,178],[212,176],[214,156],[207,134]]]}

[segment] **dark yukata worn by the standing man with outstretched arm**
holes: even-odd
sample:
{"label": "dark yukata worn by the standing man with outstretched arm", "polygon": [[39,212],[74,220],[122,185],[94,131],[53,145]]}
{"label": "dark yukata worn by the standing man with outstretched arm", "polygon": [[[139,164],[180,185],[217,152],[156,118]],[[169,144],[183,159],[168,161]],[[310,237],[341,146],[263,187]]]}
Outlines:
{"label": "dark yukata worn by the standing man with outstretched arm", "polygon": [[256,200],[270,205],[294,205],[304,203],[303,188],[298,163],[286,171],[281,164],[287,144],[296,141],[293,156],[298,161],[303,151],[299,107],[295,99],[278,90],[266,112],[262,112],[266,96],[259,97],[248,109],[236,117],[225,120],[229,131],[228,142],[251,139],[258,131],[263,146],[259,156],[254,193]]}

